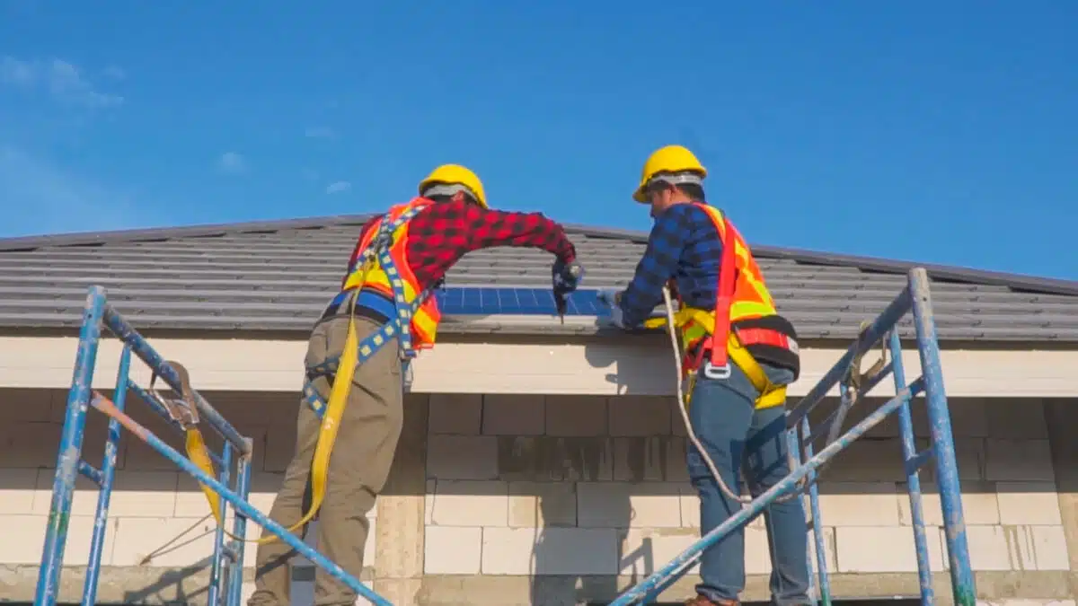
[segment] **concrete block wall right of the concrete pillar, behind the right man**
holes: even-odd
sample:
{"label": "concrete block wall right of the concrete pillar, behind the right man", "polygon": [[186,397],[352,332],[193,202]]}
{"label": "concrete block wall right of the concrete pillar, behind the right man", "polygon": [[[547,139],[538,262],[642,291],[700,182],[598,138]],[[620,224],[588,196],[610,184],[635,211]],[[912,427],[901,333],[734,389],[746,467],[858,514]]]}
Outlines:
{"label": "concrete block wall right of the concrete pillar, behind the right man", "polygon": [[[1068,570],[1039,402],[958,400],[953,415],[975,569]],[[916,425],[927,443],[923,414]],[[427,574],[640,575],[699,536],[687,439],[668,399],[436,396],[429,431]],[[889,422],[826,470],[831,570],[916,570],[900,462]],[[923,473],[928,537],[943,571],[934,476]],[[770,569],[758,519],[746,571]]]}

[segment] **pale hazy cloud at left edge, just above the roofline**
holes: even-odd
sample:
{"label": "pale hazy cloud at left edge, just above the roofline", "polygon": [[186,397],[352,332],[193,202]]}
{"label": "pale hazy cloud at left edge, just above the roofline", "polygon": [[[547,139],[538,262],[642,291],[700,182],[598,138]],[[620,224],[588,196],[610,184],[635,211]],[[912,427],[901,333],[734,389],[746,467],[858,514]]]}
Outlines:
{"label": "pale hazy cloud at left edge, just above the roofline", "polygon": [[134,194],[0,143],[0,236],[122,230],[167,223]]}

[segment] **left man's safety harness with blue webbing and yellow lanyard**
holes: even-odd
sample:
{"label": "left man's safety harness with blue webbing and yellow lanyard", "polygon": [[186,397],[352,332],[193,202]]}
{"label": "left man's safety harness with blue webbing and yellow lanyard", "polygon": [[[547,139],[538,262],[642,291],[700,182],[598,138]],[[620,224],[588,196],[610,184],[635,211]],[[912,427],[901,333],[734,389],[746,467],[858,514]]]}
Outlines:
{"label": "left man's safety harness with blue webbing and yellow lanyard", "polygon": [[[348,402],[348,394],[351,391],[351,381],[356,373],[356,367],[369,360],[371,356],[382,349],[386,343],[393,339],[398,340],[402,360],[407,360],[416,356],[416,352],[412,347],[412,317],[424,304],[427,298],[430,297],[431,290],[430,288],[424,289],[416,295],[412,303],[409,303],[404,293],[404,285],[400,273],[398,272],[397,264],[389,251],[393,243],[393,234],[397,230],[412,220],[412,218],[424,208],[426,208],[426,206],[414,205],[401,212],[401,215],[395,220],[390,221],[389,215],[385,215],[382,218],[378,225],[378,233],[367,246],[367,248],[362,250],[356,261],[356,264],[360,267],[360,279],[358,280],[360,286],[351,290],[342,290],[330,304],[331,306],[336,305],[340,307],[340,305],[343,305],[345,301],[347,301],[348,335],[345,339],[344,349],[341,355],[332,356],[320,363],[308,366],[306,368],[306,375],[304,377],[302,391],[303,401],[310,408],[312,411],[314,411],[318,418],[321,419],[321,426],[318,432],[318,442],[315,445],[315,454],[310,463],[310,508],[299,522],[288,528],[290,533],[303,527],[307,522],[314,519],[322,505],[322,500],[326,498],[330,455],[333,452],[333,444],[336,441],[341,418],[344,415],[344,409]],[[392,304],[396,308],[396,316],[390,317],[378,330],[360,341],[356,334],[356,301],[359,299],[359,294],[362,291],[362,277],[365,276],[365,274],[372,268],[375,261],[377,261],[382,271],[385,272],[392,288]],[[198,418],[197,413],[194,412],[196,409],[193,401],[193,394],[190,389],[190,385],[188,384],[186,371],[176,362],[169,363],[171,363],[180,374],[184,386],[183,392],[181,394],[183,397],[183,403],[185,404],[185,408],[191,411],[191,414],[186,415],[185,418],[179,417],[176,414],[172,415],[174,418],[181,423],[181,426],[185,430],[188,457],[191,458],[191,462],[198,466],[198,468],[205,471],[208,476],[216,478],[217,472],[213,470],[212,459],[210,458],[209,451],[206,449],[206,442],[203,439],[202,432],[197,427]],[[332,377],[332,387],[330,388],[328,401],[322,399],[314,386],[314,381],[320,376]],[[157,396],[157,398],[160,403],[166,407],[166,410],[169,410],[170,412],[172,411],[175,407],[169,405],[166,399],[161,396]],[[213,488],[205,484],[201,484],[201,486],[203,493],[206,495],[206,500],[209,501],[209,507],[213,513],[213,518],[217,520],[218,525],[222,526],[223,529],[224,518],[220,507],[220,495],[218,495]],[[249,540],[236,537],[227,531],[224,531],[224,534],[235,540],[257,542],[260,545],[279,540],[276,535]]]}

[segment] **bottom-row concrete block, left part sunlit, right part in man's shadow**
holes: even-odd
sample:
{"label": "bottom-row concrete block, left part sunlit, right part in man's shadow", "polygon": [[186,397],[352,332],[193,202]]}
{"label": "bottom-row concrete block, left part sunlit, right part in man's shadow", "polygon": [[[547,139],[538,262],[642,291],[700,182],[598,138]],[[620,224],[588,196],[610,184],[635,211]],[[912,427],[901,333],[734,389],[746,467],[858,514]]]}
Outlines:
{"label": "bottom-row concrete block, left part sunlit, right part in man's shadow", "polygon": [[483,528],[484,575],[613,575],[613,528]]}

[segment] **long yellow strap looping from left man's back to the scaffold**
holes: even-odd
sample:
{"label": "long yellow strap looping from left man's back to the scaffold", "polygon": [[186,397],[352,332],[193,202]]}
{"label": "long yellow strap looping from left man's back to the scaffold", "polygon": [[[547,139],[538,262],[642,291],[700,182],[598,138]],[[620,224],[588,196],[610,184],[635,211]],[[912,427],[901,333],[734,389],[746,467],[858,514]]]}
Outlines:
{"label": "long yellow strap looping from left man's back to the scaffold", "polygon": [[[368,260],[363,263],[362,273],[367,273],[371,262],[371,260]],[[356,334],[357,299],[358,297],[353,297],[348,306],[348,335],[345,338],[344,350],[341,353],[336,376],[334,376],[333,386],[330,388],[329,402],[322,415],[322,423],[318,430],[318,442],[315,444],[315,454],[310,464],[310,509],[303,514],[299,522],[288,528],[290,533],[294,533],[309,522],[326,499],[326,480],[329,476],[330,456],[333,453],[333,444],[336,442],[337,429],[341,426],[341,418],[344,416],[344,409],[348,402],[348,394],[351,391],[351,381],[356,375],[356,364],[359,361],[359,338]],[[194,402],[189,403],[189,405],[193,404]],[[213,462],[206,447],[206,441],[203,439],[202,432],[197,427],[190,427],[186,430],[185,446],[188,457],[191,462],[207,476],[217,478],[217,471],[213,469]],[[209,502],[210,511],[212,511],[218,525],[221,526],[221,529],[230,538],[258,545],[280,540],[277,535],[272,534],[258,539],[240,538],[224,529],[224,517],[221,513],[220,495],[212,487],[202,482],[198,484],[206,495],[206,500]]]}

